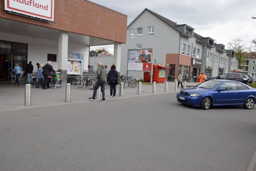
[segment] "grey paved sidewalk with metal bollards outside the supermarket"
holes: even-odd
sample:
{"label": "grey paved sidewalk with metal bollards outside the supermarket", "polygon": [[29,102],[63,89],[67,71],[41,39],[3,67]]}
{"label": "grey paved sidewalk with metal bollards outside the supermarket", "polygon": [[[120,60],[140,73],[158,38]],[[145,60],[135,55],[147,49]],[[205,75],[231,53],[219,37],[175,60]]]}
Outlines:
{"label": "grey paved sidewalk with metal bollards outside the supermarket", "polygon": [[[198,83],[187,83],[187,85],[195,86]],[[174,93],[174,82],[168,83],[168,92]],[[109,89],[105,90],[106,100],[111,100],[113,98],[129,98],[137,96],[150,96],[157,94],[166,94],[164,92],[164,83],[156,84],[156,93],[153,94],[152,85],[142,85],[142,94],[138,95],[138,88],[130,88],[125,86],[124,97],[119,97],[119,86],[116,87],[116,97],[109,97]],[[43,106],[54,106],[63,105],[68,103],[84,103],[88,102],[88,97],[92,97],[93,90],[88,90],[85,88],[78,89],[75,85],[71,85],[71,102],[65,102],[65,86],[63,88],[53,87],[51,89],[37,89],[36,85],[31,86],[31,106],[25,106],[25,85],[15,86],[11,85],[9,82],[0,82],[0,112],[11,111],[18,109],[28,109]],[[100,99],[98,99],[100,100]]]}

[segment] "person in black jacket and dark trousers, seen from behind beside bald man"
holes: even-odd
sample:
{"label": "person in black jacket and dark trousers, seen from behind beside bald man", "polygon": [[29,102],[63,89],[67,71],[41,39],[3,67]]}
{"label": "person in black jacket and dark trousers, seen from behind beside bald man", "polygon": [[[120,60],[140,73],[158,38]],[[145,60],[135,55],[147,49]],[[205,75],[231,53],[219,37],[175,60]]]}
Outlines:
{"label": "person in black jacket and dark trousers, seen from behind beside bald man", "polygon": [[[107,82],[110,85],[110,97],[116,97],[116,84],[117,84],[117,78],[118,78],[118,73],[116,71],[116,66],[112,65],[111,70],[108,72],[108,78]],[[113,93],[114,90],[114,93]]]}

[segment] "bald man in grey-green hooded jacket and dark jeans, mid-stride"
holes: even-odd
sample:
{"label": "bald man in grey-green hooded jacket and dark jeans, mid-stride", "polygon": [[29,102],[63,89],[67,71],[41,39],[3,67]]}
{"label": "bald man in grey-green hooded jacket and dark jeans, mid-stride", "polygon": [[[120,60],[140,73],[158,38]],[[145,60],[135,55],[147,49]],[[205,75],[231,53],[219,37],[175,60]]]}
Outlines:
{"label": "bald man in grey-green hooded jacket and dark jeans, mid-stride", "polygon": [[97,82],[94,86],[93,89],[93,95],[92,97],[88,98],[89,100],[95,101],[95,96],[96,96],[96,92],[97,89],[99,89],[99,87],[101,87],[101,92],[102,92],[102,99],[100,100],[101,102],[106,102],[105,100],[105,84],[106,84],[106,70],[104,65],[101,65],[101,62],[98,62],[98,68],[97,68]]}

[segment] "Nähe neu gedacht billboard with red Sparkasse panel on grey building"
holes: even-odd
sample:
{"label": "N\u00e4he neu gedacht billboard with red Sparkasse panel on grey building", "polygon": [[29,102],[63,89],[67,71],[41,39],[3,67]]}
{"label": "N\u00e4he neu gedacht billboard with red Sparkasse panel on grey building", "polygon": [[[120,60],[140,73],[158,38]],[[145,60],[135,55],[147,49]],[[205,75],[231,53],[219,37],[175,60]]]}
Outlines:
{"label": "N\u00e4he neu gedacht billboard with red Sparkasse panel on grey building", "polygon": [[127,71],[150,72],[153,61],[153,49],[129,49]]}

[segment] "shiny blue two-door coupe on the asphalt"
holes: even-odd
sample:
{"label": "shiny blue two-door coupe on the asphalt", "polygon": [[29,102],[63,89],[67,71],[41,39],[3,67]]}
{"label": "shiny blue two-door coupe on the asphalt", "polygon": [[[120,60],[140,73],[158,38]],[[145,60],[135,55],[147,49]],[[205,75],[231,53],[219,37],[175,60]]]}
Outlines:
{"label": "shiny blue two-door coupe on the asphalt", "polygon": [[256,89],[237,81],[209,80],[195,87],[181,89],[177,100],[185,105],[200,106],[209,109],[210,106],[243,105],[252,109],[256,100]]}

